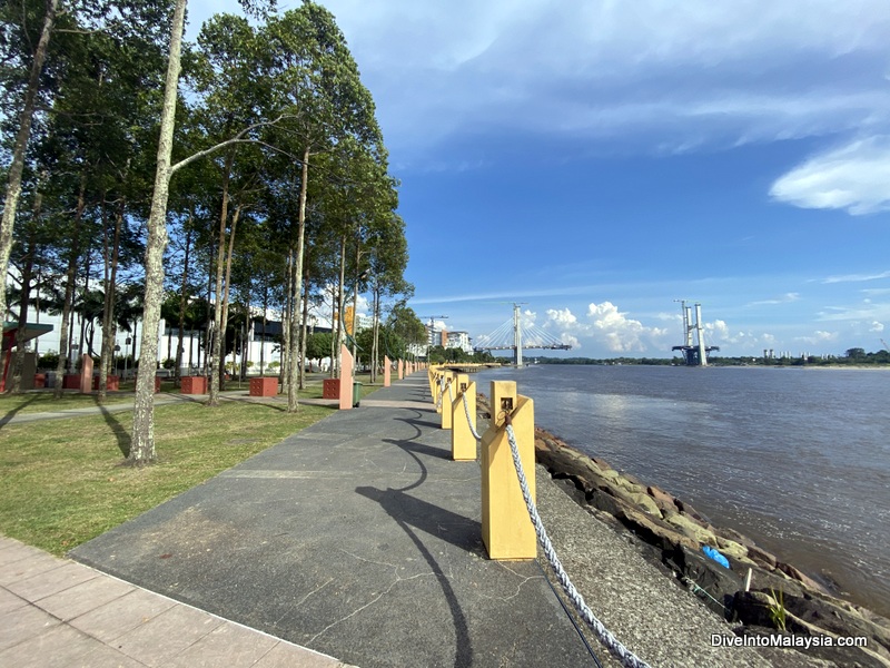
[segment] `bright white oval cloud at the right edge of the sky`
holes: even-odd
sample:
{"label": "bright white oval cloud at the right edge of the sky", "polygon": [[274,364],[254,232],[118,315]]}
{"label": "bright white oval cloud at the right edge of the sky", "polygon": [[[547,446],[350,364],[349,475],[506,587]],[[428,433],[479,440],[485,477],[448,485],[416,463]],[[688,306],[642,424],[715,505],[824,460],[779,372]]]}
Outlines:
{"label": "bright white oval cloud at the right edge of the sky", "polygon": [[890,136],[858,139],[813,156],[770,188],[802,208],[847,209],[858,216],[890,209]]}

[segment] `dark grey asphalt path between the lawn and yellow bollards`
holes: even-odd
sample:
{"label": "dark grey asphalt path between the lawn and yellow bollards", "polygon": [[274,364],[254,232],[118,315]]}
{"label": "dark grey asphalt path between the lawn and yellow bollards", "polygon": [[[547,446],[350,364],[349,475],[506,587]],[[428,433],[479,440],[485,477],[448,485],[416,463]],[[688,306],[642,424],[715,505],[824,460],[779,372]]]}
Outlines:
{"label": "dark grey asphalt path between the lawn and yellow bollards", "polygon": [[589,665],[537,563],[486,558],[426,375],[373,397],[71,556],[363,668]]}

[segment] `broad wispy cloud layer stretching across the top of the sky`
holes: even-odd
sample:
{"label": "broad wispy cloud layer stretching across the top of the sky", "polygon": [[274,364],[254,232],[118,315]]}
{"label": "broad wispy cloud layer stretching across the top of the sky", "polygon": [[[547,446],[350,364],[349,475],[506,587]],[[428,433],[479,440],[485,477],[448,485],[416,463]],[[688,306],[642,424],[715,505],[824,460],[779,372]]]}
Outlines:
{"label": "broad wispy cloud layer stretching across the top of the sky", "polygon": [[[634,137],[674,153],[890,125],[884,0],[324,4],[395,161],[492,127]],[[212,11],[239,12],[234,0],[189,9],[190,33]],[[851,55],[856,67],[843,62]],[[441,156],[413,161],[442,167]]]}

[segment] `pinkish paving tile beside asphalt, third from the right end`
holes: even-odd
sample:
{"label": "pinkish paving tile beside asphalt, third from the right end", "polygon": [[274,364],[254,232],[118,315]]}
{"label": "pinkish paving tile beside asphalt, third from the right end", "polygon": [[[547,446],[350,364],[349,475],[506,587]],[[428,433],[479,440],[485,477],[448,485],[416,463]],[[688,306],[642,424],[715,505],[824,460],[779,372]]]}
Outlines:
{"label": "pinkish paving tile beside asphalt, third from the right end", "polygon": [[113,647],[147,666],[166,666],[178,654],[212,631],[222,620],[186,606],[174,606],[125,633]]}

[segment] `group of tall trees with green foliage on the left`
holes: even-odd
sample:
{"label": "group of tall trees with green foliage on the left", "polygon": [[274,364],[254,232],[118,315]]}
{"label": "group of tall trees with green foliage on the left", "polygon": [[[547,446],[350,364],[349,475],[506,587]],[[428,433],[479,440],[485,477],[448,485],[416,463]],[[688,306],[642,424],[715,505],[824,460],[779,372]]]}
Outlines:
{"label": "group of tall trees with green foliage on the left", "polygon": [[[161,310],[177,370],[182,331],[202,332],[211,395],[227,341],[240,345],[230,324],[274,316],[290,410],[300,361],[318,355],[306,326],[320,295],[342,311],[367,294],[375,355],[396,345],[377,323],[413,288],[372,94],[327,9],[241,4],[250,20],[214,16],[195,43],[180,41],[185,0],[0,7],[0,308],[9,294],[13,318],[62,316],[60,372],[85,344],[71,313],[109,345],[141,322],[140,369],[161,362]],[[155,456],[142,381],[140,462]]]}

